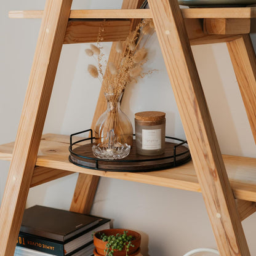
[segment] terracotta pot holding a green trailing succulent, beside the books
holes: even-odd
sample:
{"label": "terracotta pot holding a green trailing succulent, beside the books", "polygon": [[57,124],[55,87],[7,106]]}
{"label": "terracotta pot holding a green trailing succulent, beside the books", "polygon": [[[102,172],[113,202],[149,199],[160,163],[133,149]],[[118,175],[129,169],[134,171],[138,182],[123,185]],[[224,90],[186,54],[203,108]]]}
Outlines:
{"label": "terracotta pot holding a green trailing succulent, beside the books", "polygon": [[[102,241],[102,239],[100,239],[100,234],[104,233],[106,236],[110,236],[111,234],[113,234],[114,236],[116,234],[123,234],[124,231],[127,231],[127,235],[130,236],[132,235],[135,239],[132,240],[132,245],[134,245],[134,247],[130,246],[129,248],[129,252],[127,252],[128,255],[132,256],[132,255],[137,255],[140,251],[139,247],[140,247],[140,241],[141,241],[141,236],[139,233],[132,231],[132,230],[124,230],[124,229],[118,229],[118,228],[112,228],[109,230],[101,230],[98,231],[94,234],[94,246],[96,247],[96,252],[98,255],[102,255],[104,256],[104,250],[106,249],[106,244],[107,242]],[[97,255],[95,254],[95,255]],[[121,251],[119,250],[114,250],[114,256],[126,256],[126,251],[125,249],[122,249]]]}

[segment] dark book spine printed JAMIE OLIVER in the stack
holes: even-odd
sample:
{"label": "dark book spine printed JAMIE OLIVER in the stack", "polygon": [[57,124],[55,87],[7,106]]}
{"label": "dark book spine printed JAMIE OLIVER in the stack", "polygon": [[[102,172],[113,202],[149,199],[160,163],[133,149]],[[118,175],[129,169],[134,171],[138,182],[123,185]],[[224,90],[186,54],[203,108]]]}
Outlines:
{"label": "dark book spine printed JAMIE OLIVER in the stack", "polygon": [[64,256],[64,246],[58,242],[48,241],[38,236],[20,232],[18,234],[17,246],[28,249],[38,250],[39,252],[46,252],[47,254]]}

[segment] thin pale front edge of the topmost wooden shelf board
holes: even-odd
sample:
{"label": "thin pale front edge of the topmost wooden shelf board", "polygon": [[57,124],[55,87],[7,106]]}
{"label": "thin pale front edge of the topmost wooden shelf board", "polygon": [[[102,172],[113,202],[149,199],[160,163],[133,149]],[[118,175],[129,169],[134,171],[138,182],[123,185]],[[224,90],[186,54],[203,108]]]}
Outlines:
{"label": "thin pale front edge of the topmost wooden shelf board", "polygon": [[[181,9],[183,18],[255,18],[256,7]],[[43,10],[11,10],[9,18],[42,18]],[[71,10],[70,18],[151,18],[150,9]]]}

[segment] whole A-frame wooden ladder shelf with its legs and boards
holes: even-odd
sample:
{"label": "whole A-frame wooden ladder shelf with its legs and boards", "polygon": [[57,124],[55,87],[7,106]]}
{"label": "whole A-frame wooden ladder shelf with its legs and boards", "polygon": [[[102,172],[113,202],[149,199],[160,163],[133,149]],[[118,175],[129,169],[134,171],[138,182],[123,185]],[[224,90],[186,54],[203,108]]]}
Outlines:
{"label": "whole A-frame wooden ladder shelf with its legs and boards", "polygon": [[[76,212],[90,212],[100,176],[201,191],[220,254],[250,255],[241,220],[256,210],[256,159],[222,156],[190,46],[226,42],[256,139],[256,59],[249,36],[256,8],[180,9],[177,0],[148,0],[150,9],[144,10],[138,9],[142,0],[124,0],[121,10],[70,10],[71,2],[46,0],[44,11],[9,14],[42,23],[17,139],[0,146],[0,158],[11,159],[0,210],[0,255],[14,254],[29,188],[73,172],[79,172],[70,208]],[[124,39],[138,18],[153,18],[193,163],[126,174],[74,166],[68,162],[68,137],[42,136],[62,45],[97,41],[92,24],[100,25],[100,19],[109,24],[105,41]],[[110,60],[116,59],[111,50]],[[100,92],[92,126],[103,110]]]}

